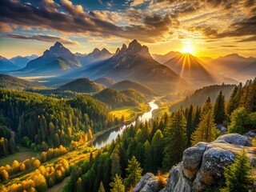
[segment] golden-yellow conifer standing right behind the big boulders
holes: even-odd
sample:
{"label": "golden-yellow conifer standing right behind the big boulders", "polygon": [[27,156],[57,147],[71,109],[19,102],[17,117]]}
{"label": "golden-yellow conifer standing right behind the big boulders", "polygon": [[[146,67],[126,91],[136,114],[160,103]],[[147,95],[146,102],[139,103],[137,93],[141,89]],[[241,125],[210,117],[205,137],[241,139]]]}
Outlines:
{"label": "golden-yellow conifer standing right behind the big boulders", "polygon": [[192,145],[195,145],[198,142],[212,142],[217,137],[218,130],[214,123],[214,115],[212,110],[208,113],[203,114],[201,121],[191,135]]}

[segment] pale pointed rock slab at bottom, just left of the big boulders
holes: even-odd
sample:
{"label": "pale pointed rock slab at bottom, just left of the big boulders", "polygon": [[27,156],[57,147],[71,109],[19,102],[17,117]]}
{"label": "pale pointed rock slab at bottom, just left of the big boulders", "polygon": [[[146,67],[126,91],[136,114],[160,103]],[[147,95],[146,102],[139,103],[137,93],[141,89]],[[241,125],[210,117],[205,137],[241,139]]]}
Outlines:
{"label": "pale pointed rock slab at bottom, just left of the big boulders", "polygon": [[182,173],[182,162],[178,164],[178,166],[174,166],[170,170],[168,182],[165,188],[165,192],[190,192],[192,190],[191,188],[191,182],[188,178],[183,176]]}

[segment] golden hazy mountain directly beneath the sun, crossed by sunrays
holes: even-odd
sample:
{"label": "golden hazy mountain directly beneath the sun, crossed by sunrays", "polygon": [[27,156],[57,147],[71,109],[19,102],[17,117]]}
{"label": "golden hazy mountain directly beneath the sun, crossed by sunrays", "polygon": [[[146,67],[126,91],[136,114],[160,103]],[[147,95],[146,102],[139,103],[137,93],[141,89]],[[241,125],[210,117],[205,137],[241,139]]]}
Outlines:
{"label": "golden hazy mountain directly beneath the sun, crossed by sunrays", "polygon": [[166,66],[174,70],[187,82],[196,86],[206,86],[216,83],[235,83],[236,81],[224,78],[220,74],[214,74],[210,66],[194,57],[192,54],[182,54],[181,56],[170,59],[165,63]]}

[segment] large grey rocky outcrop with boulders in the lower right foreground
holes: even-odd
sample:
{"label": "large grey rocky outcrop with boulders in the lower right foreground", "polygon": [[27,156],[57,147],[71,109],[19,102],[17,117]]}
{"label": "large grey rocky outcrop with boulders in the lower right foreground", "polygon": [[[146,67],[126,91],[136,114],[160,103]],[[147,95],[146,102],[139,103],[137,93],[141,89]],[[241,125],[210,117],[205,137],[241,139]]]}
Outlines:
{"label": "large grey rocky outcrop with boulders in the lower right foreground", "polygon": [[[214,142],[198,142],[195,146],[186,149],[182,162],[170,170],[166,187],[150,191],[203,191],[207,186],[214,186],[222,178],[224,167],[234,162],[235,155],[243,148],[247,151],[251,165],[256,166],[255,148],[250,146],[250,140],[245,136],[225,134]],[[144,179],[143,182],[146,183],[146,180]],[[143,185],[140,188],[143,189]]]}

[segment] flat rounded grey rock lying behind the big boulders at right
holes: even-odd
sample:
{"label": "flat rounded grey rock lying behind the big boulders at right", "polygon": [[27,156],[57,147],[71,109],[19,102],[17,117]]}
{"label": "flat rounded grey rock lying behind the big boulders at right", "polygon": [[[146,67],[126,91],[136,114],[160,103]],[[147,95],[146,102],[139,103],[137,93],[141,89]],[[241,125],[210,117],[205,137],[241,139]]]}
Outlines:
{"label": "flat rounded grey rock lying behind the big boulders at right", "polygon": [[223,140],[233,145],[250,146],[250,141],[246,136],[241,134],[224,134],[216,139],[216,141]]}

